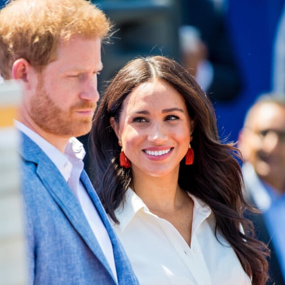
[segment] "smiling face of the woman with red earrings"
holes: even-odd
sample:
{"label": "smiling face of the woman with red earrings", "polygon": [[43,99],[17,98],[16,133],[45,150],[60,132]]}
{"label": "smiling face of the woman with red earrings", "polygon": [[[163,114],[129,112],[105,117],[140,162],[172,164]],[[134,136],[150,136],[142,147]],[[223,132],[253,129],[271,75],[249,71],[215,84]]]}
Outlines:
{"label": "smiling face of the woman with red earrings", "polygon": [[179,170],[193,132],[184,98],[168,83],[138,85],[124,100],[114,131],[133,173],[163,177]]}

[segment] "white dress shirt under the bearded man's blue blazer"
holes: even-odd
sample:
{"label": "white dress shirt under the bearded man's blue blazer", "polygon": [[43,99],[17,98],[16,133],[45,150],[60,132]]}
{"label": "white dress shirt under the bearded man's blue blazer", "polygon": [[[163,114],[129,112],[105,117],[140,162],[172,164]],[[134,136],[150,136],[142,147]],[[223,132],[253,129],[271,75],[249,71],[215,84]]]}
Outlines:
{"label": "white dress shirt under the bearded man's blue blazer", "polygon": [[109,234],[80,180],[80,175],[84,168],[83,158],[85,156],[85,150],[83,144],[74,137],[70,138],[63,154],[26,125],[16,120],[14,124],[17,129],[26,134],[45,152],[69,184],[82,207],[90,228],[109,262],[114,278],[117,280],[113,246]]}

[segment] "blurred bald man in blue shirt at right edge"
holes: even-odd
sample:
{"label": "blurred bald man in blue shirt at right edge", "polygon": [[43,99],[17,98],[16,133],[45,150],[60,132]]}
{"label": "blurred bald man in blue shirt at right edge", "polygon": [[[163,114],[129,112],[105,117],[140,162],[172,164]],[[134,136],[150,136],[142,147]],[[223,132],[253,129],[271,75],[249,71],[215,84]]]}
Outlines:
{"label": "blurred bald man in blue shirt at right edge", "polygon": [[268,284],[285,284],[285,101],[262,96],[239,136],[246,195],[262,214],[251,215],[257,237],[271,250]]}

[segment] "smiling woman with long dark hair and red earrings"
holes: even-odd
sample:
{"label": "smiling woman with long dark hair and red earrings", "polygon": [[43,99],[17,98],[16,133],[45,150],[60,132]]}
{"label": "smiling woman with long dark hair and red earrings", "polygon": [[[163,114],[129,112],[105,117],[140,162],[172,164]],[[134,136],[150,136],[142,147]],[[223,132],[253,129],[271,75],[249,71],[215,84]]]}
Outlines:
{"label": "smiling woman with long dark hair and red earrings", "polygon": [[91,141],[97,189],[141,284],[266,283],[266,248],[242,218],[237,149],[219,141],[210,101],[177,62],[126,64]]}

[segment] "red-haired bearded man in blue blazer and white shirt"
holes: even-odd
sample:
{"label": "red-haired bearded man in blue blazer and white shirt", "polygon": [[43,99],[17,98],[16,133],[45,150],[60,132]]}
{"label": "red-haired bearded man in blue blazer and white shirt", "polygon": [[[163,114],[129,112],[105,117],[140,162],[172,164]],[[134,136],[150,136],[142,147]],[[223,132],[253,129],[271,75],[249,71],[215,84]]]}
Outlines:
{"label": "red-haired bearded man in blue blazer and white shirt", "polygon": [[16,127],[29,283],[138,284],[74,138],[91,128],[109,21],[85,0],[15,0],[0,23],[1,76],[24,89]]}

